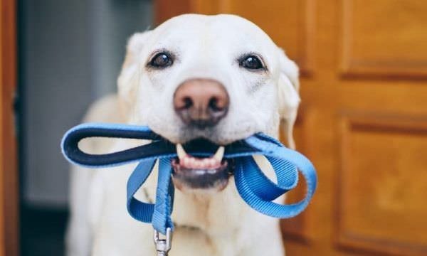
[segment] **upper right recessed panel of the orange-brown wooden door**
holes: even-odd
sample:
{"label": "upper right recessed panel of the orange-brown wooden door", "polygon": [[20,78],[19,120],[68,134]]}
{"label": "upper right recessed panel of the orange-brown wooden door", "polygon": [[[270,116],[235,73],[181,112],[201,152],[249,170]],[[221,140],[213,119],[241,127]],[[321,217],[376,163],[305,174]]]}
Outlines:
{"label": "upper right recessed panel of the orange-brown wooden door", "polygon": [[427,77],[427,5],[342,0],[342,72]]}

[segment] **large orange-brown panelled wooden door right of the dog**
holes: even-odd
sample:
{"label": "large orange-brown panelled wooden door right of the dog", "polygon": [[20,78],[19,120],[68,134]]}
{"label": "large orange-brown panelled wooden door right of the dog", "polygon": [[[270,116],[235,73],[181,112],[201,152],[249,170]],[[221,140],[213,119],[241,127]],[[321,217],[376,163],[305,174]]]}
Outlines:
{"label": "large orange-brown panelled wooden door right of the dog", "polygon": [[[302,70],[297,149],[317,167],[309,208],[282,223],[288,255],[427,255],[427,1],[157,0],[238,14]],[[291,192],[290,201],[302,196]]]}

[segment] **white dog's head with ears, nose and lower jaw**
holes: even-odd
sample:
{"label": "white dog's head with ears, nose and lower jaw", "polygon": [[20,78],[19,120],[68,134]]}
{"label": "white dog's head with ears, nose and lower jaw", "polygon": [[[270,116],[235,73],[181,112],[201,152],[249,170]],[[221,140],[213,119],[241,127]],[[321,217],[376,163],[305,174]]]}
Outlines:
{"label": "white dog's head with ears, nose and lower jaw", "polygon": [[[297,76],[296,65],[250,21],[189,14],[132,36],[119,89],[129,122],[176,144],[176,186],[221,189],[230,167],[221,145],[256,132],[277,136],[280,118],[291,135]],[[216,144],[217,154],[189,156],[184,148],[193,142]]]}

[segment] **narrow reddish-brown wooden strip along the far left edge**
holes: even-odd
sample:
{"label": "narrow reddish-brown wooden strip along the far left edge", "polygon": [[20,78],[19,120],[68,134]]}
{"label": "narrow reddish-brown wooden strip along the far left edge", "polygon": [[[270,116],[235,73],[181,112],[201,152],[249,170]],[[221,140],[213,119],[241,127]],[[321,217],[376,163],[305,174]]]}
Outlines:
{"label": "narrow reddish-brown wooden strip along the far left edge", "polygon": [[13,101],[16,5],[0,1],[0,256],[18,255],[18,177]]}

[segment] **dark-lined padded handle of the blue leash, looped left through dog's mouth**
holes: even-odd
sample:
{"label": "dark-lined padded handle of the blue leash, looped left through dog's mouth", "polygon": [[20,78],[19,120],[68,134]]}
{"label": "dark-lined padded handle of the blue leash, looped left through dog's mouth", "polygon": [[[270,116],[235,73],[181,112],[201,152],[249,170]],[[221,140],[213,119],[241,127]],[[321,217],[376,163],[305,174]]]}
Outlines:
{"label": "dark-lined padded handle of the blue leash, looped left through dog's mouth", "polygon": [[[136,146],[130,149],[109,154],[89,154],[78,147],[78,143],[86,138],[115,138],[115,139],[141,139],[151,141],[149,144]],[[187,153],[194,156],[210,156],[218,146],[213,143],[199,142],[186,147]],[[203,148],[203,151],[200,151]],[[65,159],[70,163],[88,167],[103,168],[130,164],[141,159],[159,159],[176,157],[175,145],[167,142],[159,135],[152,132],[149,127],[128,124],[80,124],[68,130],[63,136],[61,150]],[[224,157],[233,158],[242,154],[255,154],[256,152],[246,144],[235,142],[226,146]]]}

